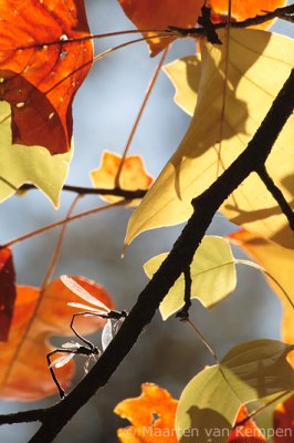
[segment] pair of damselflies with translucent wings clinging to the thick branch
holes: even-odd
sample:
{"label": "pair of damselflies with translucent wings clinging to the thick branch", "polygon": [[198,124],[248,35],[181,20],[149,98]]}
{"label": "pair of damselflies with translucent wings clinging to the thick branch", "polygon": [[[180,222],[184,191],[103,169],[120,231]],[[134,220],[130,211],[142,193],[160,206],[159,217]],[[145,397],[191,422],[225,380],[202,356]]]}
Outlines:
{"label": "pair of damselflies with translucent wings clinging to the thick branch", "polygon": [[[118,331],[122,322],[124,319],[127,317],[126,311],[115,311],[111,310],[106,305],[104,305],[102,301],[97,300],[95,297],[93,297],[87,290],[85,290],[81,285],[78,285],[75,280],[73,280],[71,277],[67,276],[61,276],[62,282],[71,289],[72,292],[74,292],[76,296],[81,297],[83,300],[85,300],[87,303],[94,305],[94,306],[88,306],[84,303],[77,303],[77,302],[69,302],[69,306],[72,306],[74,308],[80,308],[84,309],[83,312],[77,312],[73,315],[72,321],[71,321],[71,329],[73,333],[82,340],[84,344],[81,344],[78,342],[66,342],[62,344],[61,348],[54,349],[53,351],[49,352],[46,356],[49,369],[52,375],[52,379],[54,380],[60,396],[61,399],[64,399],[65,392],[61,388],[60,382],[56,378],[56,374],[54,372],[53,368],[62,368],[64,364],[69,363],[69,361],[76,354],[87,357],[87,361],[85,364],[85,371],[87,372],[90,359],[96,360],[102,351],[104,351],[109,342],[112,341],[113,337],[116,334]],[[103,331],[102,331],[102,351],[95,347],[91,341],[86,340],[84,337],[82,337],[74,328],[74,320],[78,316],[97,316],[104,319],[107,319]],[[63,353],[60,358],[55,360],[51,360],[52,356],[56,353]],[[64,356],[65,353],[65,356]]]}

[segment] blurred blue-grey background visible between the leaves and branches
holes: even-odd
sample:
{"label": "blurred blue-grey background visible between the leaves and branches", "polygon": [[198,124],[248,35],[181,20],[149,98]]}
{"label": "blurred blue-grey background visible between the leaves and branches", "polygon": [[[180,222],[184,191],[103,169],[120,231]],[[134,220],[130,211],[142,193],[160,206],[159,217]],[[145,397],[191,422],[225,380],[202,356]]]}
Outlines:
{"label": "blurred blue-grey background visible between the leaves and branches", "polygon": [[[93,34],[133,28],[116,1],[86,0],[85,3]],[[287,23],[276,23],[274,30],[293,35]],[[97,40],[96,52],[125,40],[125,37]],[[167,61],[192,52],[195,41],[178,41]],[[99,164],[103,150],[123,152],[157,63],[158,56],[150,59],[145,43],[136,43],[94,64],[74,101],[75,154],[67,184],[91,186],[88,172]],[[174,92],[161,73],[130,148],[132,154],[143,156],[154,177],[177,148],[189,124],[189,117],[174,104]],[[4,202],[0,206],[1,243],[64,218],[73,198],[73,194],[63,193],[59,212],[35,190]],[[98,197],[86,196],[80,200],[76,213],[98,204],[103,204]],[[129,209],[115,208],[70,224],[55,276],[67,274],[94,279],[112,295],[117,309],[129,310],[147,282],[143,264],[154,255],[169,250],[182,228],[177,226],[143,234],[120,259],[129,215]],[[217,214],[209,234],[224,235],[234,229],[237,227]],[[18,284],[41,285],[56,236],[54,229],[13,248]],[[237,254],[242,257],[240,251]],[[219,356],[240,341],[280,338],[280,303],[263,277],[252,268],[238,268],[237,290],[211,311],[193,301],[191,318]],[[94,334],[92,340],[97,341],[97,337]],[[125,424],[113,414],[120,400],[137,396],[140,384],[146,381],[168,389],[178,398],[186,383],[203,365],[211,363],[211,356],[187,324],[175,318],[162,322],[157,315],[108,385],[76,414],[55,442],[116,442],[115,430]],[[81,377],[82,361],[74,383]],[[55,395],[34,403],[0,402],[0,413],[42,408],[56,400]],[[0,426],[0,441],[23,443],[36,426]]]}

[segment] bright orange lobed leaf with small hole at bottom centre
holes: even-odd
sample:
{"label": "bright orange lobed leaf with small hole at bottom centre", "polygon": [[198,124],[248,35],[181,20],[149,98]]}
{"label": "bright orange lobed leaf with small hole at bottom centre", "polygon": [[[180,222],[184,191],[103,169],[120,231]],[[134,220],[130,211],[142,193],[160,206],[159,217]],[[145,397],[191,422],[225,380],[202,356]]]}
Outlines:
{"label": "bright orange lobed leaf with small hole at bottom centre", "polygon": [[123,443],[177,443],[175,416],[177,400],[153,383],[141,385],[141,395],[118,403],[114,410],[132,426],[117,430]]}

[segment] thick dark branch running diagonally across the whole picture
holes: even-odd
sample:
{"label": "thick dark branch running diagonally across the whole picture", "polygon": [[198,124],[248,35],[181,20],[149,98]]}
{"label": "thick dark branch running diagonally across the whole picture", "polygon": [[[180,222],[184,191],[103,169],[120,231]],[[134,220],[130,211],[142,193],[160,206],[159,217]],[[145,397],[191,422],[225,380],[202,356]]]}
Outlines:
{"label": "thick dark branch running diagonally across the whole picture", "polygon": [[40,430],[30,443],[48,443],[59,434],[71,418],[104,387],[151,321],[159,303],[191,262],[213,215],[229,195],[263,165],[294,107],[294,70],[274,100],[260,128],[246,150],[199,197],[192,200],[193,214],[188,220],[159,270],[138,297],[129,316],[101,359],[77,387],[43,416]]}

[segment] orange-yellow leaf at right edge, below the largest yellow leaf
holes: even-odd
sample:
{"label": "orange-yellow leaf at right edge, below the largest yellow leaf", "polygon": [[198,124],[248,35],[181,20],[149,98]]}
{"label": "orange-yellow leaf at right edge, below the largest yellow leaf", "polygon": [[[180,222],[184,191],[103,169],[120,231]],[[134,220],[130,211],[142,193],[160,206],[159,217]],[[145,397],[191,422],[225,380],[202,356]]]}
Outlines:
{"label": "orange-yellow leaf at right edge, below the largest yellow leaf", "polygon": [[[254,261],[264,268],[286,291],[294,305],[294,251],[266,240],[246,230],[238,230],[229,239],[248,253]],[[294,310],[290,301],[272,278],[266,277],[283,303],[282,338],[286,343],[294,343]],[[294,356],[293,356],[294,363]]]}

